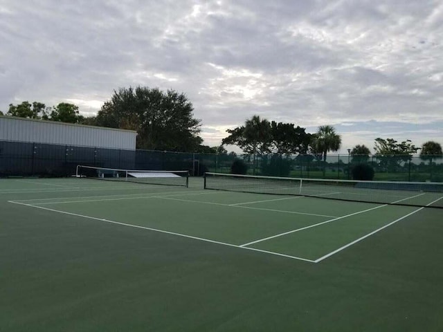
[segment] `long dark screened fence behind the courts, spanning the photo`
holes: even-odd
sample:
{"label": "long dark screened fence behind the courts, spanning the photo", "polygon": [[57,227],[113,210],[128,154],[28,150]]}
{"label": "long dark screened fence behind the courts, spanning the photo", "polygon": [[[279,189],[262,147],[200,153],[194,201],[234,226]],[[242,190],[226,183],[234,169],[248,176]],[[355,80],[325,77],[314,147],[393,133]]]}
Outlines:
{"label": "long dark screened fence behind the courts, spanning the photo", "polygon": [[314,155],[280,156],[194,154],[170,151],[103,149],[0,141],[0,176],[71,176],[77,165],[119,169],[188,169],[229,173],[236,158],[248,165],[248,174],[302,178],[352,178],[356,164],[370,165],[374,180],[443,182],[443,156],[350,156],[331,154],[326,161]]}

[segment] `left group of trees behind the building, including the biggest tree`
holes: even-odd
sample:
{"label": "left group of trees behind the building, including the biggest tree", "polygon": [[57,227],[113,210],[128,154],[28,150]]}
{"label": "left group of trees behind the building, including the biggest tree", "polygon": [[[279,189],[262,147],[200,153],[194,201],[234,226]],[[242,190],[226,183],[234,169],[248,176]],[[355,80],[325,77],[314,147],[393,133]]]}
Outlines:
{"label": "left group of trees behind the building, including the biggest tree", "polygon": [[201,120],[194,118],[193,111],[192,103],[183,93],[138,86],[114,91],[92,117],[81,116],[75,104],[46,107],[42,102],[27,101],[10,104],[6,116],[134,130],[137,149],[226,153],[223,147],[202,144]]}

